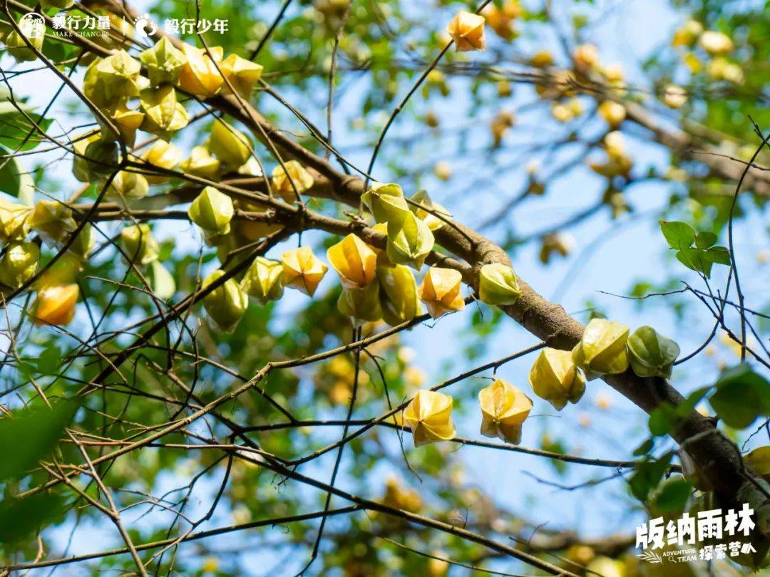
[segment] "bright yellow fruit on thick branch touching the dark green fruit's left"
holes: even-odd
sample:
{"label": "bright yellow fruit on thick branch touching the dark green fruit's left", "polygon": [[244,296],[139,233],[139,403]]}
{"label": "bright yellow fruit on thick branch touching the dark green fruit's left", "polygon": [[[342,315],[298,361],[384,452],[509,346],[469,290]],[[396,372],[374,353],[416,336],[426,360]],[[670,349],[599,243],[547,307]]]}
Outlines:
{"label": "bright yellow fruit on thick branch touching the dark green fruit's left", "polygon": [[607,319],[591,319],[581,342],[572,349],[572,361],[591,381],[628,369],[628,327]]}

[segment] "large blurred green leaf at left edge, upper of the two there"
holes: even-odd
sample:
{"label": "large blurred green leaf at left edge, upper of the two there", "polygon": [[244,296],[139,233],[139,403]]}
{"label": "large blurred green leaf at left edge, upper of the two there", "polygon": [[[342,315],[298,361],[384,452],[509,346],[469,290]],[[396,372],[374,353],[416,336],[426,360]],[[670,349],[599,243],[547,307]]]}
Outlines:
{"label": "large blurred green leaf at left edge, upper of the two there", "polygon": [[61,401],[53,409],[22,409],[15,418],[0,419],[0,481],[22,477],[50,455],[75,408],[74,402]]}

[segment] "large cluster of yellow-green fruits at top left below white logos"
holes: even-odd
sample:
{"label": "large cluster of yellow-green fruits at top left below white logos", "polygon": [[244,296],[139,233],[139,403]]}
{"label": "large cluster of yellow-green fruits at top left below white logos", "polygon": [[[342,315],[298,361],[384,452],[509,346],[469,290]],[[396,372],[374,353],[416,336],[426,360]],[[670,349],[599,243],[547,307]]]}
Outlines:
{"label": "large cluster of yellow-green fruits at top left below white logos", "polygon": [[[146,75],[142,75],[142,65]],[[219,92],[232,92],[247,97],[262,74],[261,65],[232,54],[223,58],[221,47],[208,51],[182,44],[176,48],[162,38],[133,58],[119,50],[106,58],[96,58],[85,72],[83,94],[109,117],[115,134],[102,122],[99,132],[75,140],[73,172],[81,182],[95,182],[112,172],[119,161],[116,140],[132,146],[136,131],[157,135],[158,140],[142,154],[142,159],[160,172],[170,171],[182,153],[169,142],[170,136],[189,122],[186,108],[179,102],[180,89],[198,98],[209,98]],[[138,108],[129,108],[133,98]],[[180,168],[201,178],[214,178],[226,172],[258,174],[259,167],[251,155],[246,135],[223,120],[213,124],[209,140],[192,149]],[[122,198],[141,198],[149,184],[164,182],[166,176],[119,172],[110,184],[112,194]]]}

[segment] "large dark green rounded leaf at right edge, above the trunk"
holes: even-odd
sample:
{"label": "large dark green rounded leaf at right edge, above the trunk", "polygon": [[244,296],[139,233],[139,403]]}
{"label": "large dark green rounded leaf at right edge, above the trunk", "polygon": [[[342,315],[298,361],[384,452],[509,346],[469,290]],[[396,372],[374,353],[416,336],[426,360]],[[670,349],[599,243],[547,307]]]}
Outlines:
{"label": "large dark green rounded leaf at right edge, above the trunk", "polygon": [[760,416],[770,416],[770,382],[748,363],[725,369],[708,399],[726,425],[745,429]]}

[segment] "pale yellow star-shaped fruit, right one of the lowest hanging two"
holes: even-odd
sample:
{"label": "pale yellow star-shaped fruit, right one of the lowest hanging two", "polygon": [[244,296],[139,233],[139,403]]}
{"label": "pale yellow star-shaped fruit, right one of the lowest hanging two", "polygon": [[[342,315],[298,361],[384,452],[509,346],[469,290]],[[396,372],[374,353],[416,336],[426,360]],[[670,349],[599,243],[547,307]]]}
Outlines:
{"label": "pale yellow star-shaped fruit, right one of the lowest hanging two", "polygon": [[519,389],[496,379],[479,392],[481,405],[481,434],[498,437],[505,442],[518,445],[521,442],[521,428],[532,409],[532,401]]}

